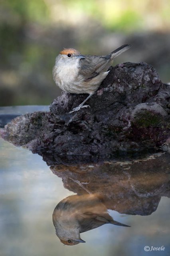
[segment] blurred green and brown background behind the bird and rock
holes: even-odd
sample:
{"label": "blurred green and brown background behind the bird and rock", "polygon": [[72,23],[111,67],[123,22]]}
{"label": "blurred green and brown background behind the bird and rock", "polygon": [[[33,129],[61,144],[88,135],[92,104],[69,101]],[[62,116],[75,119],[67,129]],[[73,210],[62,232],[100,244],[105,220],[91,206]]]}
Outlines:
{"label": "blurred green and brown background behind the bird and rock", "polygon": [[63,47],[119,62],[147,62],[170,82],[169,0],[1,0],[0,106],[50,104],[61,90],[52,67]]}

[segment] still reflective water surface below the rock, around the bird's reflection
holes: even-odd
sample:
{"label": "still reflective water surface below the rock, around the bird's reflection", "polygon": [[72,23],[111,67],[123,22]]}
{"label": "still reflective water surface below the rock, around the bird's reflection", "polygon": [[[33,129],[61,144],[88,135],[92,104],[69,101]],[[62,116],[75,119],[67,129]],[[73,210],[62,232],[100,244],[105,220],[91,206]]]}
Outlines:
{"label": "still reflective water surface below the rock, around the bird's reflection", "polygon": [[[169,163],[163,154],[49,168],[38,154],[0,139],[0,256],[169,256]],[[86,243],[63,246],[53,210],[65,197],[89,192],[103,194],[114,220],[131,227],[105,224],[82,233]]]}

